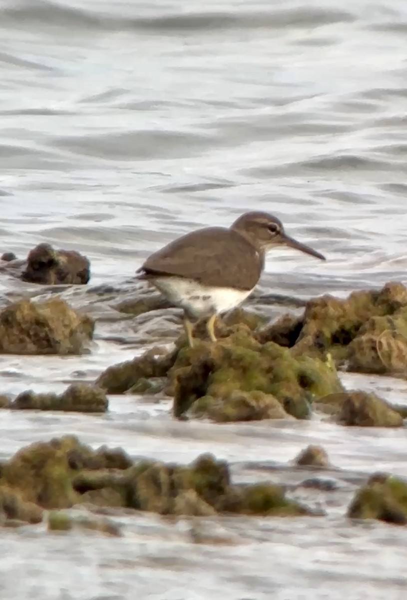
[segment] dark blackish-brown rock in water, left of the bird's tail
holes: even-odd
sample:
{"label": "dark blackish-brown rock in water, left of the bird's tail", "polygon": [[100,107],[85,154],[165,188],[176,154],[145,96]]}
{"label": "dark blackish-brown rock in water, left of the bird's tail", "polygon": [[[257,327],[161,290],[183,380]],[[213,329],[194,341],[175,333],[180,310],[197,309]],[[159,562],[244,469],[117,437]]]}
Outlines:
{"label": "dark blackish-brown rock in water, left of the bird's tail", "polygon": [[86,284],[90,263],[86,256],[74,250],[54,250],[49,244],[38,244],[27,257],[22,281],[54,284]]}

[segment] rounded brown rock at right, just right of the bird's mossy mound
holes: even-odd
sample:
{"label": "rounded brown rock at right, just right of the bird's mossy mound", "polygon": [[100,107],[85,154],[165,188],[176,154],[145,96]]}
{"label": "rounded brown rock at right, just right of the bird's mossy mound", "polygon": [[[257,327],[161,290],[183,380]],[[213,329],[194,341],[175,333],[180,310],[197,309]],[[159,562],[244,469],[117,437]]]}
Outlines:
{"label": "rounded brown rock at right, just right of the bird's mossy mound", "polygon": [[348,392],[343,394],[337,420],[357,427],[402,427],[403,417],[390,404],[375,394]]}

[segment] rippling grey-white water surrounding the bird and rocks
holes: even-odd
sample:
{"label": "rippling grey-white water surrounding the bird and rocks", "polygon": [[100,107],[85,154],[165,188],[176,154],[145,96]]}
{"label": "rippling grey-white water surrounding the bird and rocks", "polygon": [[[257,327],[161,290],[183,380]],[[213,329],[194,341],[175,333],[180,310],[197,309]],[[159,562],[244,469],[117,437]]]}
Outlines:
{"label": "rippling grey-white water surrounding the bird and rocks", "polygon": [[[1,391],[60,391],[171,341],[176,311],[120,320],[112,305],[134,295],[131,278],[151,251],[246,209],[275,213],[328,259],[272,254],[263,293],[306,299],[405,283],[406,32],[402,0],[0,0],[0,249],[23,257],[47,241],[86,253],[91,290],[63,295],[99,319],[89,356],[1,356]],[[2,275],[1,302],[32,293]],[[407,401],[403,381],[343,379]],[[321,476],[337,489],[294,493],[327,517],[219,518],[203,544],[192,543],[188,520],[146,514],[117,517],[117,539],[4,530],[5,597],[404,597],[405,529],[344,515],[367,473],[407,474],[405,430],[318,417],[178,423],[169,408],[122,396],[104,416],[2,411],[0,457],[76,433],[95,447],[183,463],[210,449],[237,480],[296,486],[312,472],[288,463],[321,443],[336,467]]]}

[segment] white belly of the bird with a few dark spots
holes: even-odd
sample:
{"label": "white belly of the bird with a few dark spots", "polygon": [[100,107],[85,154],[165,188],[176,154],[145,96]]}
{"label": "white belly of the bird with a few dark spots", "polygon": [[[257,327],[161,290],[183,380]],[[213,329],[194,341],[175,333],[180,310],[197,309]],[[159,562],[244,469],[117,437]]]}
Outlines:
{"label": "white belly of the bird with a few dark spots", "polygon": [[232,310],[252,292],[234,290],[232,287],[210,288],[182,277],[160,277],[154,281],[154,285],[170,302],[186,310],[195,319]]}

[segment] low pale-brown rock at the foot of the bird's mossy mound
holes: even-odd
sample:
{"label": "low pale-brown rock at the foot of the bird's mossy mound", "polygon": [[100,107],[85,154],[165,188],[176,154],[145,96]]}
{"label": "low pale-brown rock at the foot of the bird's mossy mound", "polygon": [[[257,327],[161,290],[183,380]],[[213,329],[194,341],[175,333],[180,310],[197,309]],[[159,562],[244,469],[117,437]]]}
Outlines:
{"label": "low pale-brown rock at the foot of the bird's mossy mound", "polygon": [[199,398],[192,406],[192,414],[207,417],[217,423],[293,418],[272,394],[237,390],[224,398]]}

